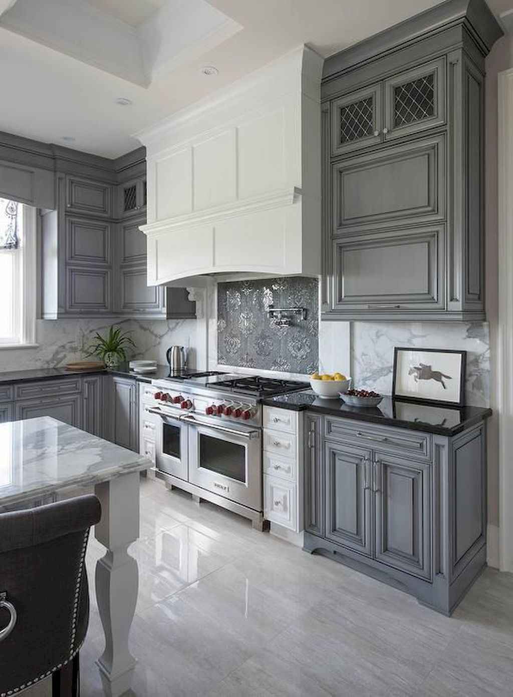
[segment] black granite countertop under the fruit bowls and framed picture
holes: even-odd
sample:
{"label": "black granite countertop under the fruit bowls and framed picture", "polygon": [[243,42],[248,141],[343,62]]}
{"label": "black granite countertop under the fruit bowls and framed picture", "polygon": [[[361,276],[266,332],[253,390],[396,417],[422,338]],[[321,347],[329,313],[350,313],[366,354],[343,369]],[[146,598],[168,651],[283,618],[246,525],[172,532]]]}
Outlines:
{"label": "black granite countertop under the fruit bowls and framed picture", "polygon": [[263,404],[293,411],[315,411],[440,436],[455,436],[491,415],[491,409],[478,406],[432,406],[391,397],[383,397],[378,406],[359,408],[348,406],[342,399],[321,399],[312,390],[268,397],[263,400]]}

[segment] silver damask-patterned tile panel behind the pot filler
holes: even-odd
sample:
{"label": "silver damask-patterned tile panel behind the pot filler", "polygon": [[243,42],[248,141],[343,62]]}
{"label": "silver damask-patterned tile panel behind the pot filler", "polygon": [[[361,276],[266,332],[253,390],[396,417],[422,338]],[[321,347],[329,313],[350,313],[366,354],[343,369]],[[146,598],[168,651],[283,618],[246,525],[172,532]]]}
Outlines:
{"label": "silver damask-patterned tile panel behind the pot filler", "polygon": [[[241,368],[312,373],[319,365],[319,281],[269,278],[217,285],[217,362]],[[305,307],[290,326],[269,318],[269,305]]]}

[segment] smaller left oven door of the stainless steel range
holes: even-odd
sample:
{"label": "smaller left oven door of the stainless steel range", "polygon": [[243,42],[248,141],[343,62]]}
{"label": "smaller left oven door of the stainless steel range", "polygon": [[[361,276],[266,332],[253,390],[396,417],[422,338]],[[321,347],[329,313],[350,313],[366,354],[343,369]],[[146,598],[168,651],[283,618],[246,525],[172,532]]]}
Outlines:
{"label": "smaller left oven door of the stainless steel range", "polygon": [[180,477],[187,482],[188,438],[187,424],[176,416],[164,414],[157,409],[151,413],[158,414],[155,442],[155,464],[157,469],[168,475]]}

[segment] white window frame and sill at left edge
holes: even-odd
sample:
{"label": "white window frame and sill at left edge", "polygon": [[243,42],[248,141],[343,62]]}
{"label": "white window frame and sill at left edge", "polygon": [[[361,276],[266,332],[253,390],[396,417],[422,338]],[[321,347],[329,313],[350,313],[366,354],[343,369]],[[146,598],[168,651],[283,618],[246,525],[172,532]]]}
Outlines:
{"label": "white window frame and sill at left edge", "polygon": [[36,208],[23,206],[22,215],[22,239],[15,255],[15,292],[14,316],[15,335],[17,341],[9,339],[2,342],[0,339],[0,351],[6,348],[37,348],[36,344],[36,304],[37,304],[37,277],[36,277]]}

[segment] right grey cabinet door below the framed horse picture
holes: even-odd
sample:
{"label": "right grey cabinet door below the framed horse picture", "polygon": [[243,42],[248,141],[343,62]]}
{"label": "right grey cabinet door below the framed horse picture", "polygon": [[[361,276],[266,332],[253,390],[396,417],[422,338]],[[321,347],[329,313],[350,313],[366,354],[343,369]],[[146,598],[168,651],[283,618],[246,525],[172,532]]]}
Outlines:
{"label": "right grey cabinet door below the framed horse picture", "polygon": [[375,557],[431,579],[431,465],[374,454]]}

